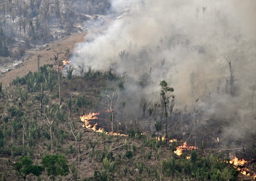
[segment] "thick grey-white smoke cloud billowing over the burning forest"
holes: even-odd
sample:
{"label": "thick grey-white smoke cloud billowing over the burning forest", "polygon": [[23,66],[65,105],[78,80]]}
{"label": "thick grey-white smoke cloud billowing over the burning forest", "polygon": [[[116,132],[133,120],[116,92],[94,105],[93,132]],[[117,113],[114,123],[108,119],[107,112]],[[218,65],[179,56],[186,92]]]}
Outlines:
{"label": "thick grey-white smoke cloud billowing over the burning forest", "polygon": [[75,51],[80,53],[71,61],[84,69],[125,72],[127,115],[140,118],[142,96],[160,104],[159,81],[166,80],[174,88],[174,110],[183,111],[187,105],[188,112],[204,113],[202,121],[232,120],[230,131],[241,128],[244,121],[255,131],[254,0],[112,0],[111,4],[112,18],[104,23],[108,27],[99,33],[89,31],[90,41],[77,45]]}

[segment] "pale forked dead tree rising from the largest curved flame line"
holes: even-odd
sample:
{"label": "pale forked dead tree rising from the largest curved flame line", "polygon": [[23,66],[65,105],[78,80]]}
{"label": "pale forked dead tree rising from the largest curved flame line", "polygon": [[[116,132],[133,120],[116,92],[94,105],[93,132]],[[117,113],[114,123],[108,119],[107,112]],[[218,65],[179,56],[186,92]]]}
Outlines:
{"label": "pale forked dead tree rising from the largest curved flame line", "polygon": [[[114,96],[117,95],[116,101],[114,101]],[[116,104],[119,99],[119,89],[114,90],[113,94],[106,95],[108,97],[108,107],[110,108],[110,121],[111,121],[111,135],[113,135],[113,121],[115,118]]]}

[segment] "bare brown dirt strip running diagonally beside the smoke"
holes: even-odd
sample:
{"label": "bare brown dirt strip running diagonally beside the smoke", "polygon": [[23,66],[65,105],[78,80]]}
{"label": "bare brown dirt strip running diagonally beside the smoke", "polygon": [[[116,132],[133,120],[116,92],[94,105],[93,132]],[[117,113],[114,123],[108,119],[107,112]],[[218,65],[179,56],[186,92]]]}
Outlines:
{"label": "bare brown dirt strip running diagonally beside the smoke", "polygon": [[[69,50],[72,52],[74,49],[76,43],[86,41],[87,34],[94,34],[98,33],[100,31],[103,31],[107,28],[107,26],[101,26],[92,28],[86,32],[82,33],[75,33],[68,37],[64,37],[61,40],[57,40],[54,42],[49,42],[49,47],[44,47],[40,51],[37,51],[37,54],[41,55],[40,58],[40,66],[43,66],[44,64],[54,64],[53,62],[53,52],[52,50],[65,50],[69,48]],[[51,48],[50,50],[47,50]],[[35,72],[37,71],[37,63],[36,63],[36,51],[34,49],[30,49],[26,52],[28,56],[26,57],[25,62],[21,64],[19,68],[11,69],[8,72],[4,73],[4,76],[0,76],[0,82],[3,82],[3,86],[8,85],[13,79],[16,78],[16,76],[23,77],[25,76],[29,71]],[[52,57],[52,60],[50,58]]]}

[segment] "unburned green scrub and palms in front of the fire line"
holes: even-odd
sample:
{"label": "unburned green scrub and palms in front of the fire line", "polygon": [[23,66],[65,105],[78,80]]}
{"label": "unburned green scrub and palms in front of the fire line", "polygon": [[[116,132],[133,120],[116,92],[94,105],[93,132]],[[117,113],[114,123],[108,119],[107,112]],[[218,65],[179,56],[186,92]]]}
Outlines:
{"label": "unburned green scrub and palms in front of the fire line", "polygon": [[[126,76],[92,69],[74,76],[71,69],[60,76],[62,105],[56,103],[58,76],[52,65],[17,76],[9,86],[1,87],[0,179],[239,180],[224,155],[204,155],[201,145],[201,151],[179,157],[173,151],[180,142],[166,142],[161,134],[159,140],[154,133],[142,134],[137,120],[126,128],[114,127],[128,136],[82,128],[80,115],[108,107],[106,92],[119,88],[120,96],[125,96]],[[106,121],[113,119],[110,116]],[[155,126],[161,132],[159,120]]]}

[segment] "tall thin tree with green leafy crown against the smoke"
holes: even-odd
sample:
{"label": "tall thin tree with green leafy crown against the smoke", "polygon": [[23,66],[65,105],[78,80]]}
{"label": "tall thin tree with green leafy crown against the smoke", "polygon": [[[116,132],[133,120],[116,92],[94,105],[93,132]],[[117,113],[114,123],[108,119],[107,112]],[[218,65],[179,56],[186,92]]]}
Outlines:
{"label": "tall thin tree with green leafy crown against the smoke", "polygon": [[168,83],[165,80],[160,81],[160,87],[159,90],[161,101],[164,103],[165,107],[165,134],[167,138],[167,118],[168,118],[168,112],[166,111],[166,108],[169,107],[170,97],[167,95],[170,92],[173,92],[174,89],[172,87],[168,87]]}

